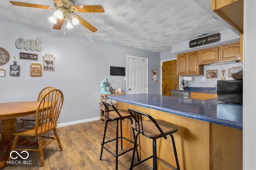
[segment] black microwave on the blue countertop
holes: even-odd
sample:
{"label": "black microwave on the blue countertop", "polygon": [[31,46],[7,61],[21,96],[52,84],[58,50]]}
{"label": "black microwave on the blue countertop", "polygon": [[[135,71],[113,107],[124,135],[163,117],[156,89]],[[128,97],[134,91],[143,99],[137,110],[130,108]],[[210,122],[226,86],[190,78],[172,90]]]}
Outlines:
{"label": "black microwave on the blue countertop", "polygon": [[243,103],[242,80],[217,80],[217,100],[227,103]]}

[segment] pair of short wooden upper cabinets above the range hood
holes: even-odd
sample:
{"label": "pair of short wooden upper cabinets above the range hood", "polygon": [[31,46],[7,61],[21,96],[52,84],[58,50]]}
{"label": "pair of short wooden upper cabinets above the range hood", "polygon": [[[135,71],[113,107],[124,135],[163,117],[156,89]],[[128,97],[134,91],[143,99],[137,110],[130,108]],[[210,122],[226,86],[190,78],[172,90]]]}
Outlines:
{"label": "pair of short wooden upper cabinets above the range hood", "polygon": [[239,60],[236,56],[240,54],[240,42],[201,49],[198,53],[199,64],[202,65]]}

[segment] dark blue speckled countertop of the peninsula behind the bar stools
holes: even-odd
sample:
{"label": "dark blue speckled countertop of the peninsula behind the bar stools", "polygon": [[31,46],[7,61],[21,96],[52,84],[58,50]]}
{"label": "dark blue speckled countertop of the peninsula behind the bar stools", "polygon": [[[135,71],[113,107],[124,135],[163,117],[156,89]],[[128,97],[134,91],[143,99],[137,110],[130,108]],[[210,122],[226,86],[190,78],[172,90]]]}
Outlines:
{"label": "dark blue speckled countertop of the peninsula behind the bar stools", "polygon": [[152,94],[112,95],[107,98],[227,127],[243,128],[243,106],[240,104]]}

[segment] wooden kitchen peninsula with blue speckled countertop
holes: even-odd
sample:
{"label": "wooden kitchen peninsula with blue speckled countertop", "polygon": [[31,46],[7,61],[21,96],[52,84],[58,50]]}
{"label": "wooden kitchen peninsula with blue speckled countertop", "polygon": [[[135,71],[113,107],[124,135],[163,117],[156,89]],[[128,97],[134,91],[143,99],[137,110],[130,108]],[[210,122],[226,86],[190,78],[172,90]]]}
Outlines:
{"label": "wooden kitchen peninsula with blue speckled countertop", "polygon": [[[108,99],[118,100],[119,109],[136,109],[177,125],[178,132],[173,135],[182,170],[242,169],[242,105],[150,94],[113,95]],[[128,122],[123,126],[131,129]],[[132,131],[123,135],[132,138]],[[139,138],[142,159],[152,154],[150,141]],[[170,142],[170,138],[158,140],[158,156],[175,164]],[[151,166],[152,160],[146,163]],[[158,166],[166,168],[161,163]]]}

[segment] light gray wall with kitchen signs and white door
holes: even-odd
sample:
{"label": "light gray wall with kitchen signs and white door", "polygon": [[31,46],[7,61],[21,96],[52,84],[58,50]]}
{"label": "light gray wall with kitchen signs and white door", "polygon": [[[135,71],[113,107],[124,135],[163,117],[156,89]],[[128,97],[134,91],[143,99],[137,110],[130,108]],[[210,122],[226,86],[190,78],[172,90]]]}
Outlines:
{"label": "light gray wall with kitchen signs and white door", "polygon": [[[64,94],[59,124],[98,119],[100,82],[108,78],[112,87],[121,87],[126,91],[124,76],[110,76],[110,66],[126,67],[127,55],[149,59],[148,93],[160,93],[160,83],[151,82],[151,70],[160,69],[160,53],[63,34],[57,30],[42,30],[17,22],[0,22],[0,47],[10,53],[10,61],[0,66],[6,69],[6,77],[0,77],[0,103],[35,101],[43,87],[53,86]],[[37,37],[42,40],[42,50],[39,52],[17,49],[15,46],[18,38],[36,40]],[[19,59],[20,52],[38,54],[41,65],[42,56],[52,54],[55,57],[55,71],[43,71],[42,77],[30,77],[31,60]],[[20,65],[20,77],[9,75],[13,56]]]}

